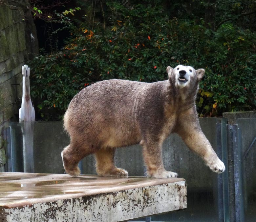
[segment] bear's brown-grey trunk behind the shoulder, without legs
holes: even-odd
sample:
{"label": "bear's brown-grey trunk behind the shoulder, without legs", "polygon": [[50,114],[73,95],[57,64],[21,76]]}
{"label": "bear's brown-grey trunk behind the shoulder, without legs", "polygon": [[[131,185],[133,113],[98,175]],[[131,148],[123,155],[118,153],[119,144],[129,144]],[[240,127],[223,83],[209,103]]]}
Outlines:
{"label": "bear's brown-grey trunk behind the shoulder, without legs", "polygon": [[87,138],[90,134],[102,146],[136,144],[140,139],[138,106],[151,86],[152,83],[116,79],[88,86],[70,102],[64,127],[72,136]]}

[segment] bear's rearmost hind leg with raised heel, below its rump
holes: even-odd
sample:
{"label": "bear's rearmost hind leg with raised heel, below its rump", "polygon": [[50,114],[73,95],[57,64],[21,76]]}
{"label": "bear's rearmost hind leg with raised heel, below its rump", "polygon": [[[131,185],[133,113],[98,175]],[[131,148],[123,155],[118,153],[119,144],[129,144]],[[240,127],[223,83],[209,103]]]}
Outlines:
{"label": "bear's rearmost hind leg with raised heel, below its rump", "polygon": [[93,150],[90,150],[89,147],[79,146],[79,144],[71,143],[61,152],[63,167],[65,171],[71,176],[79,176],[80,169],[78,168],[78,163],[85,156],[93,153]]}

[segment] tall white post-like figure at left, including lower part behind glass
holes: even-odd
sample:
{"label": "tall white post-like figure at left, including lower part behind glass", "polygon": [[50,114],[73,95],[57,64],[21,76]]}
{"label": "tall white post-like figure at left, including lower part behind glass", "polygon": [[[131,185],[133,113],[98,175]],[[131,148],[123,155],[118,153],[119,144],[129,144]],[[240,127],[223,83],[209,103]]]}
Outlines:
{"label": "tall white post-like figure at left, including lower part behind glass", "polygon": [[23,138],[23,167],[24,172],[34,172],[33,135],[35,110],[30,98],[29,84],[30,68],[22,66],[22,102],[19,110]]}

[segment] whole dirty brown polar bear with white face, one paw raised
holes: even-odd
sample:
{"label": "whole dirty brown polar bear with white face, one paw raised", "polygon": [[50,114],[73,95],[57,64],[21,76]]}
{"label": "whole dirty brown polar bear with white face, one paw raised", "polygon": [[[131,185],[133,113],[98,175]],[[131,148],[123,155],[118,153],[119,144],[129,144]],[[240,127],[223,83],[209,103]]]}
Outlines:
{"label": "whole dirty brown polar bear with white face, one paw raised", "polygon": [[78,162],[94,153],[99,175],[126,176],[127,171],[115,166],[115,149],[139,143],[148,176],[176,177],[162,161],[162,143],[171,133],[180,135],[212,171],[224,172],[223,162],[201,130],[195,107],[204,70],[179,65],[166,71],[165,81],[105,80],[75,95],[64,116],[71,141],[61,156],[68,174],[78,176]]}

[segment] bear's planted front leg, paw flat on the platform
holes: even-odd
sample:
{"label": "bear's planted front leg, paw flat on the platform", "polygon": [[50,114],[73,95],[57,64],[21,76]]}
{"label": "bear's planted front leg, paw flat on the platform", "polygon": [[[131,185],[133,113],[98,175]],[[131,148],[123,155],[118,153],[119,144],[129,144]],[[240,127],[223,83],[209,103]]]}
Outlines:
{"label": "bear's planted front leg, paw flat on the platform", "polygon": [[[147,142],[145,142],[147,141]],[[143,158],[147,167],[147,175],[155,178],[177,177],[178,174],[166,171],[162,160],[162,143],[159,141],[141,140]]]}

